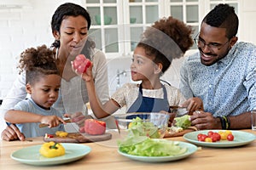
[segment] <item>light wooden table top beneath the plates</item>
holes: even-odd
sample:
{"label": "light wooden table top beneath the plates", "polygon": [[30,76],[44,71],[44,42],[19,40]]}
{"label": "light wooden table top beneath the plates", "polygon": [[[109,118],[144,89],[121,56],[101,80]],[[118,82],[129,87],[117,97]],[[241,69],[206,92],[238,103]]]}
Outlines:
{"label": "light wooden table top beneath the plates", "polygon": [[[256,131],[243,130],[254,133]],[[67,164],[35,167],[26,165],[11,159],[10,154],[15,150],[34,144],[43,144],[42,138],[33,138],[32,141],[0,141],[1,157],[0,169],[231,169],[231,170],[255,170],[256,169],[256,140],[252,143],[235,148],[208,148],[201,147],[193,155],[179,161],[164,163],[148,163],[133,161],[125,156],[119,155],[116,147],[117,135],[113,133],[113,139],[97,143],[84,143],[91,148],[89,155],[79,161]],[[171,140],[185,141],[183,137],[169,138]]]}

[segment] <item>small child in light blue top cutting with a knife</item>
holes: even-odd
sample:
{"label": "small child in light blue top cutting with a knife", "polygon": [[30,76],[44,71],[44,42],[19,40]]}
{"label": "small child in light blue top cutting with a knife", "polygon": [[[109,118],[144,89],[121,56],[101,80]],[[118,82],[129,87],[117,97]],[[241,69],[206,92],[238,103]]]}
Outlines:
{"label": "small child in light blue top cutting with a knife", "polygon": [[[26,92],[30,97],[20,101],[6,112],[6,122],[15,123],[26,138],[44,136],[64,130],[62,114],[51,107],[58,99],[61,87],[60,73],[55,65],[55,54],[45,45],[28,48],[20,54],[20,72],[26,72]],[[22,114],[19,114],[20,111]],[[39,128],[39,123],[49,128]]]}

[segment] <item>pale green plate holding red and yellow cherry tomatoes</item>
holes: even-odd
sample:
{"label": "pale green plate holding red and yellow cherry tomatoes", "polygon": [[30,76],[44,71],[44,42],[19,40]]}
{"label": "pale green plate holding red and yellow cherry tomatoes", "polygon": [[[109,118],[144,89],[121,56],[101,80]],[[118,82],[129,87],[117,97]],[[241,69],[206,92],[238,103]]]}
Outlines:
{"label": "pale green plate holding red and yellow cherry tomatoes", "polygon": [[188,140],[189,142],[193,144],[198,144],[202,146],[208,146],[208,147],[235,147],[235,146],[241,146],[244,144],[249,144],[253,142],[254,139],[256,139],[256,135],[253,133],[247,133],[242,131],[234,131],[230,130],[232,134],[234,135],[233,141],[228,140],[220,140],[218,142],[201,142],[197,139],[197,134],[204,133],[207,134],[209,131],[218,133],[218,131],[224,131],[224,130],[201,130],[201,131],[195,131],[191,133],[186,133],[183,135],[183,138]]}

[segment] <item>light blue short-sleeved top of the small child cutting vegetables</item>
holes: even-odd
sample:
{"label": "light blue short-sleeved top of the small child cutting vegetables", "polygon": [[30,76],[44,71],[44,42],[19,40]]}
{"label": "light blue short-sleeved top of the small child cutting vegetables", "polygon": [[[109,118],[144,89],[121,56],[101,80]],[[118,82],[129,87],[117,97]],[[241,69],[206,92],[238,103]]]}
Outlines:
{"label": "light blue short-sleeved top of the small child cutting vegetables", "polygon": [[[14,110],[18,111],[27,111],[36,113],[39,115],[44,116],[60,116],[62,117],[62,114],[55,110],[53,107],[50,108],[50,110],[44,110],[43,108],[39,107],[35,102],[31,99],[24,99],[20,101],[17,105],[15,105]],[[32,137],[38,137],[38,136],[44,136],[45,133],[48,134],[55,134],[56,131],[65,131],[63,124],[60,124],[58,127],[42,127],[39,128],[40,122],[32,122],[32,123],[22,123],[22,124],[16,124],[16,126],[20,129],[21,133],[24,133],[26,138],[32,138]]]}

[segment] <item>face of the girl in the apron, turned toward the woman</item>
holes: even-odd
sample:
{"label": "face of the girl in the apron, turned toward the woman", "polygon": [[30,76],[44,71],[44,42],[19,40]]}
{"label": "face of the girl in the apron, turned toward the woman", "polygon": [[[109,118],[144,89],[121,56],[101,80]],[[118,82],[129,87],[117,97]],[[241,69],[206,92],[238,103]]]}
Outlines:
{"label": "face of the girl in the apron, turned toward the woman", "polygon": [[156,67],[157,65],[152,59],[145,54],[144,48],[135,48],[131,63],[131,79],[133,81],[150,80],[151,77],[154,77]]}

